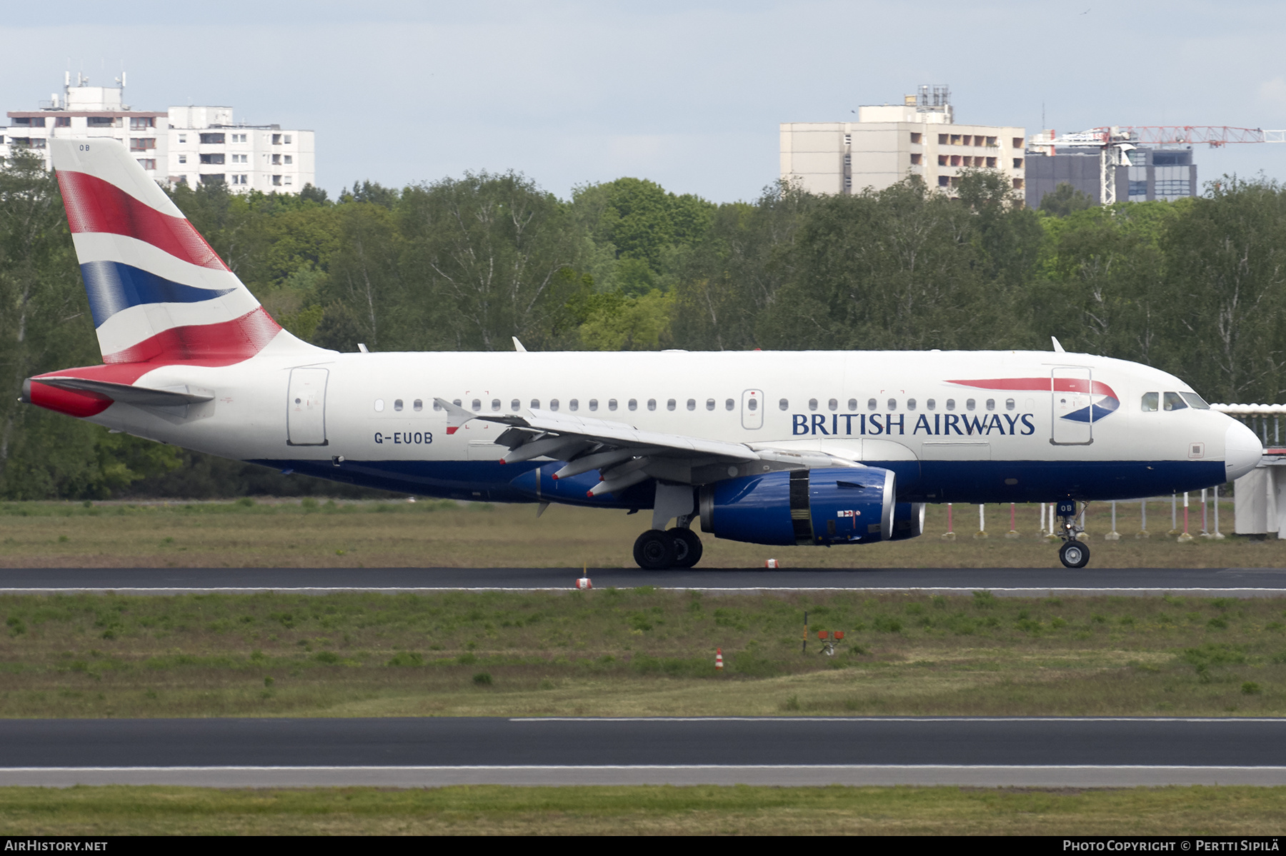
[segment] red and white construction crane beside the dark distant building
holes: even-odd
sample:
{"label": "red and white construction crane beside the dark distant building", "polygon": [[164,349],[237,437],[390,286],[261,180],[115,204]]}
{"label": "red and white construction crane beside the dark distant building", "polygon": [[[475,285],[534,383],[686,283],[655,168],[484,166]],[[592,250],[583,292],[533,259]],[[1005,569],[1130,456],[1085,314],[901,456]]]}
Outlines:
{"label": "red and white construction crane beside the dark distant building", "polygon": [[1141,145],[1200,143],[1210,148],[1222,148],[1229,143],[1286,143],[1286,130],[1265,131],[1227,125],[1112,125],[1061,136],[1052,130],[1031,135],[1031,148],[1042,154],[1056,154],[1060,145],[1097,148],[1098,199],[1105,206],[1116,202],[1116,167],[1129,166],[1130,150]]}

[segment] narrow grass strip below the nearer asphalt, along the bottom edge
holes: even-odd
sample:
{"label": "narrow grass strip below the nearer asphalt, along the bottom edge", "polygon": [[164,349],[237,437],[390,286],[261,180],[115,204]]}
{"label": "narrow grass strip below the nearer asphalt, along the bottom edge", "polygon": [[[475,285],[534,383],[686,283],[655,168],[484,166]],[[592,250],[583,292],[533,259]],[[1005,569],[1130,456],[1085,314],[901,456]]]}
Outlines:
{"label": "narrow grass strip below the nearer asphalt, along the bottom edge", "polygon": [[1276,835],[1286,788],[0,788],[5,835]]}

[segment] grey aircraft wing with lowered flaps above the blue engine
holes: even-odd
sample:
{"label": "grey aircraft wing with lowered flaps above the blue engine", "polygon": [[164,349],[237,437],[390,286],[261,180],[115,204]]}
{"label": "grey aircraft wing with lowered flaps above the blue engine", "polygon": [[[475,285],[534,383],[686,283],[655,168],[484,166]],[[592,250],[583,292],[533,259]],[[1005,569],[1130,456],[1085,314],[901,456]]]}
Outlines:
{"label": "grey aircraft wing with lowered flaps above the blue engine", "polygon": [[590,495],[616,492],[646,478],[703,485],[774,469],[860,467],[820,452],[751,449],[746,443],[640,431],[622,422],[552,410],[532,409],[522,414],[489,415],[471,413],[442,398],[435,401],[448,413],[449,434],[475,419],[508,425],[495,438],[498,445],[509,450],[500,459],[502,463],[512,464],[535,458],[567,461],[553,474],[554,478],[599,470],[602,481]]}

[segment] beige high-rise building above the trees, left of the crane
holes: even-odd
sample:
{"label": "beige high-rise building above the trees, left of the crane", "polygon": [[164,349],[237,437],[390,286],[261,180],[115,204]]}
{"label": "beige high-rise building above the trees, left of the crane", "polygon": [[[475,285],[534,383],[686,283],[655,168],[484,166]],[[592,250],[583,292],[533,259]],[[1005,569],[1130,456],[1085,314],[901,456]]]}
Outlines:
{"label": "beige high-rise building above the trees, left of the crane", "polygon": [[995,170],[1024,190],[1022,127],[957,125],[946,86],[921,86],[901,104],[858,108],[856,122],[783,122],[781,176],[810,193],[882,190],[918,175],[952,193],[964,170]]}

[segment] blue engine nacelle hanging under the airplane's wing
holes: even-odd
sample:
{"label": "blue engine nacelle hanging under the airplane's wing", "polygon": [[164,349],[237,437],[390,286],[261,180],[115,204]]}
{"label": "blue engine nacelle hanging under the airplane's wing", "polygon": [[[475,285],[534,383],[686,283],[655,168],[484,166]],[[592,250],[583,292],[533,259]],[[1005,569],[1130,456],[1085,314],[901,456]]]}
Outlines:
{"label": "blue engine nacelle hanging under the airplane's wing", "polygon": [[[894,479],[890,470],[877,467],[729,478],[701,488],[701,531],[751,544],[889,541],[894,537]],[[904,505],[909,519],[912,504]]]}

